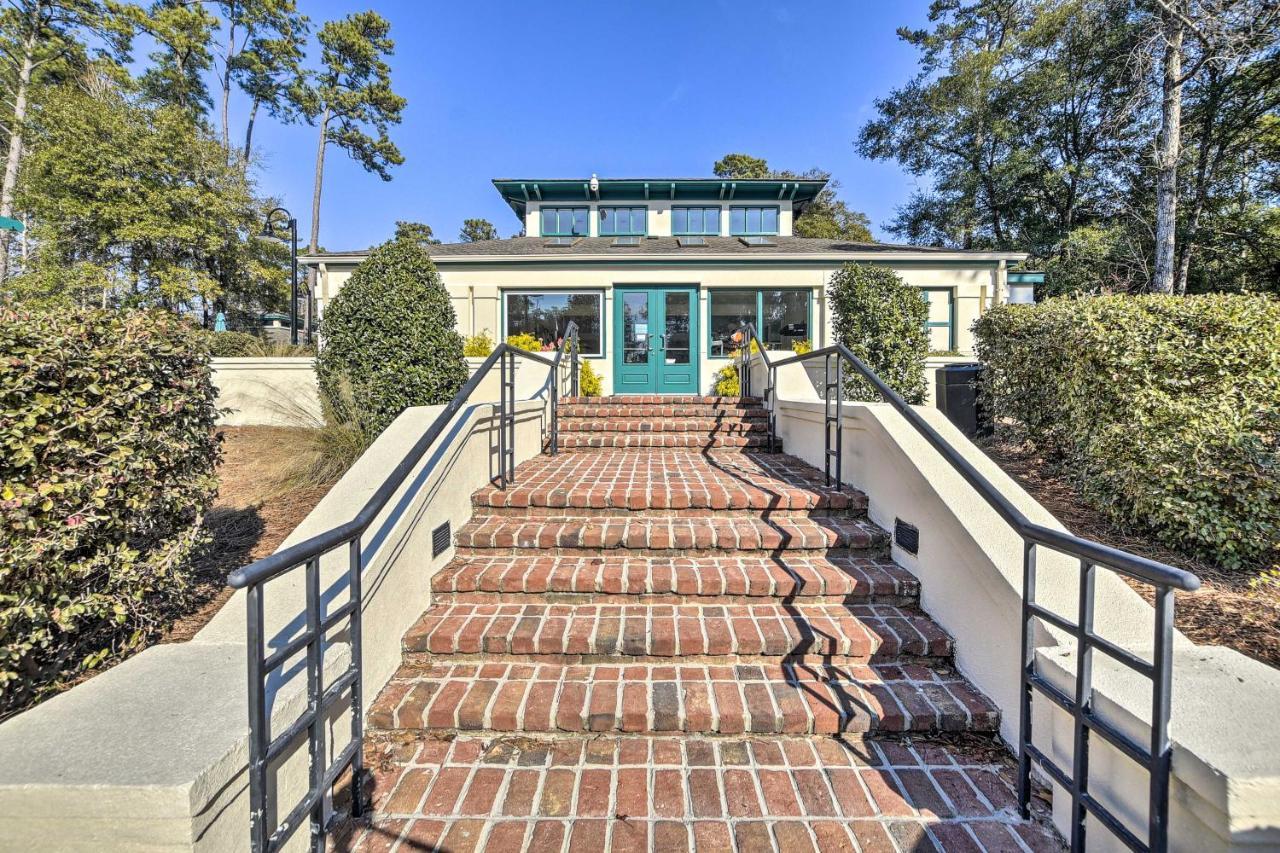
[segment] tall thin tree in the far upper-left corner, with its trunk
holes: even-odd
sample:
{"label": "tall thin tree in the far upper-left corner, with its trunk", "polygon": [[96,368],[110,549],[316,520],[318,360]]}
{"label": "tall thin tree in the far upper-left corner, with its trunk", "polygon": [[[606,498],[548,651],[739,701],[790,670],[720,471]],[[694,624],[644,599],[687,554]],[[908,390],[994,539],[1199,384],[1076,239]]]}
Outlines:
{"label": "tall thin tree in the far upper-left corner, with its trunk", "polygon": [[[5,88],[4,133],[8,137],[4,178],[0,182],[0,216],[13,216],[14,191],[27,149],[27,113],[31,90],[42,72],[56,69],[95,42],[100,55],[124,59],[131,28],[118,6],[100,0],[10,0],[0,18],[3,51],[0,74]],[[0,240],[0,282],[9,275],[8,232]]]}

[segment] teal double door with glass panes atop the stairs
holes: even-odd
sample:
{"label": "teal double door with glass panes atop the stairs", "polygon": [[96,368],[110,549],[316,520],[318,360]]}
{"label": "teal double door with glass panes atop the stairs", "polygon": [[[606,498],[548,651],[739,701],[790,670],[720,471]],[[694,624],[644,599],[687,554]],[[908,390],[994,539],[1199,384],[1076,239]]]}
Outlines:
{"label": "teal double door with glass panes atop the stairs", "polygon": [[698,393],[698,288],[613,288],[613,393]]}

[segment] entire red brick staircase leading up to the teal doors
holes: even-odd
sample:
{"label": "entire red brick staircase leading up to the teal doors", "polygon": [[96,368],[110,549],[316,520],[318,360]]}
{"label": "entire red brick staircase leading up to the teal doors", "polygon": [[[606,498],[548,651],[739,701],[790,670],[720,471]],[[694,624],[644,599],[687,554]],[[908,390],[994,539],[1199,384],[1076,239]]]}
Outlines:
{"label": "entire red brick staircase leading up to the teal doors", "polygon": [[[769,824],[776,809],[800,820],[805,839],[812,834],[836,849],[855,849],[846,830],[864,849],[881,841],[883,849],[929,849],[960,826],[929,829],[925,818],[940,815],[980,824],[961,826],[965,839],[988,833],[998,835],[995,847],[1055,847],[1016,820],[998,774],[997,786],[983,793],[975,779],[965,784],[963,770],[938,779],[941,771],[909,745],[872,745],[904,734],[989,736],[998,711],[951,666],[951,638],[919,610],[919,585],[888,558],[884,532],[865,516],[865,496],[828,489],[813,467],[760,450],[767,426],[758,401],[570,398],[561,416],[568,452],[532,459],[517,469],[513,487],[474,496],[474,516],[456,533],[456,556],[433,578],[431,603],[404,637],[403,665],[372,704],[367,752],[381,771],[375,829],[360,847],[383,849],[383,826],[392,836],[416,831],[415,843],[428,848],[447,835],[448,849],[472,849],[484,839],[489,849],[543,849],[535,835],[552,830],[534,822],[553,818],[568,821],[558,836],[567,839],[575,818],[591,816],[584,804],[600,795],[582,788],[591,744],[599,743],[616,749],[603,763],[621,767],[630,749],[645,767],[636,783],[644,803],[626,813],[623,799],[636,793],[622,790],[625,771],[611,770],[600,783],[612,790],[603,794],[604,817],[612,817],[605,822],[622,815],[632,825],[600,830],[613,849],[625,847],[617,833],[632,834],[636,825],[644,830],[636,849],[680,849],[659,844],[664,833],[687,848],[699,838],[690,829],[696,818],[723,821],[723,838],[732,835],[740,849],[772,849],[773,841],[744,843],[762,830],[791,849],[799,836],[783,844],[796,830]],[[442,740],[453,740],[452,751],[430,745]],[[705,783],[714,794],[694,783],[704,779],[698,744],[708,743],[719,751],[710,763],[721,775]],[[762,756],[744,761],[762,785],[746,799],[730,789],[724,762],[732,762],[714,760],[739,754],[733,744]],[[826,756],[810,762],[823,767],[874,766],[884,749],[906,749],[924,781],[892,770],[877,776],[878,786],[855,783],[864,804],[841,807],[852,794],[824,771],[827,806],[812,803],[803,786],[791,788],[800,771],[776,779],[767,770],[800,744]],[[557,762],[557,751],[566,749],[575,757]],[[943,763],[965,766],[955,756]],[[995,774],[989,763],[983,772]],[[493,774],[486,765],[497,765]],[[567,794],[553,797],[548,792],[562,784],[558,765],[576,775]],[[666,765],[680,771],[669,776],[673,784],[684,792],[687,777],[689,789],[663,812],[655,774]],[[447,774],[451,789],[442,790]],[[476,792],[481,776],[498,780],[493,790]],[[534,785],[527,797],[517,797],[517,776],[520,785]],[[774,802],[767,779],[794,790],[794,804]],[[951,793],[927,794],[920,785],[929,779]],[[888,820],[895,815],[897,822]],[[686,826],[664,830],[654,822],[662,817]],[[755,817],[764,822],[749,825]],[[819,817],[841,820],[837,829],[804,824]],[[517,818],[529,833],[518,830],[512,847],[517,830],[506,824]],[[855,818],[874,818],[878,829],[863,829],[879,835],[859,836]],[[558,840],[543,841],[561,849]]]}

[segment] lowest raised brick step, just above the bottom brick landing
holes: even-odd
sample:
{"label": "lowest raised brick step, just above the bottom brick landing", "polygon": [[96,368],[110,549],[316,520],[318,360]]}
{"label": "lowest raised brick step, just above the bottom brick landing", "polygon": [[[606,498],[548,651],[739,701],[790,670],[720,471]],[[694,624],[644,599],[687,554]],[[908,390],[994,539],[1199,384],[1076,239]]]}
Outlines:
{"label": "lowest raised brick step, just above the bottom brick landing", "polygon": [[369,711],[384,731],[995,733],[947,666],[403,665]]}

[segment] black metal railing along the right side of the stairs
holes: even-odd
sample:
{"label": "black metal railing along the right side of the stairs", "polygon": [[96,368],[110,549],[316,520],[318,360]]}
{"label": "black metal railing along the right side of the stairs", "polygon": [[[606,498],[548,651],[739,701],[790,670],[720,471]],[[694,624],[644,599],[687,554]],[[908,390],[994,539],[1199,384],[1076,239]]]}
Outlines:
{"label": "black metal railing along the right side of the stairs", "polygon": [[[769,441],[773,442],[774,412],[777,409],[777,369],[786,364],[796,364],[823,359],[823,402],[824,429],[827,442],[824,461],[828,485],[832,480],[844,482],[844,457],[840,448],[842,421],[840,419],[844,401],[844,375],[841,364],[847,362],[863,379],[877,391],[881,398],[893,407],[911,428],[915,429],[947,464],[973,487],[979,496],[1009,524],[1023,539],[1023,612],[1021,612],[1021,690],[1018,744],[1018,804],[1023,817],[1030,816],[1030,768],[1036,762],[1043,771],[1071,795],[1071,850],[1084,849],[1084,831],[1088,815],[1093,815],[1105,827],[1133,850],[1162,852],[1169,847],[1169,776],[1171,771],[1172,745],[1169,739],[1170,697],[1172,684],[1172,644],[1174,644],[1174,592],[1199,589],[1199,578],[1189,571],[1147,560],[1119,548],[1083,539],[1080,537],[1046,528],[1028,519],[1009,500],[996,489],[947,439],[915,411],[901,396],[890,388],[858,356],[844,345],[833,345],[813,350],[803,355],[787,355],[771,359],[764,345],[750,324],[742,329],[740,355],[740,384],[742,393],[750,396],[751,356],[759,355],[769,373],[769,389],[765,405],[769,409]],[[751,343],[759,352],[751,352]],[[835,361],[835,370],[832,369]],[[835,382],[832,382],[835,374]],[[835,394],[835,403],[832,402]],[[835,405],[836,412],[831,409]],[[835,437],[832,437],[835,430]],[[835,441],[835,447],[832,447]],[[833,452],[835,451],[835,452]],[[833,470],[832,470],[833,469]],[[1036,555],[1044,547],[1068,555],[1080,561],[1079,601],[1075,621],[1060,616],[1036,603]],[[1093,630],[1094,581],[1097,569],[1107,569],[1155,588],[1155,631],[1152,654],[1147,661],[1119,646],[1103,639]],[[1066,631],[1075,639],[1076,671],[1073,695],[1053,686],[1036,666],[1036,620],[1043,620]],[[1152,681],[1151,699],[1151,738],[1146,745],[1137,743],[1119,729],[1106,722],[1093,712],[1093,652],[1098,651],[1114,661],[1129,667]],[[1073,719],[1071,770],[1062,770],[1043,751],[1032,743],[1032,697],[1038,690],[1050,702],[1062,708]],[[1146,841],[1130,831],[1111,809],[1089,793],[1089,739],[1091,734],[1101,736],[1106,743],[1119,749],[1124,756],[1146,768],[1149,775],[1147,797],[1147,839]]]}

